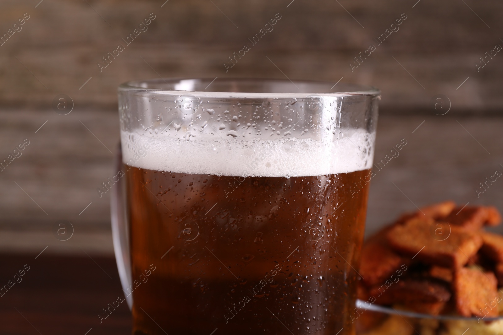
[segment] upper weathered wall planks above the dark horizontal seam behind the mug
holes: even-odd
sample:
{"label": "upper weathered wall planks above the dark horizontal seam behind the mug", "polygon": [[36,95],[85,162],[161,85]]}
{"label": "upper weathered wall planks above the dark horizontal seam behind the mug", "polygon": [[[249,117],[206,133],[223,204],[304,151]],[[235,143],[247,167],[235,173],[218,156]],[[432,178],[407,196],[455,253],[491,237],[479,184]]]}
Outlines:
{"label": "upper weathered wall planks above the dark horizontal seam behind the mug", "polygon": [[[503,104],[503,55],[479,72],[475,66],[503,46],[503,3],[495,0],[164,1],[3,0],[0,34],[23,14],[30,19],[0,46],[0,105],[50,108],[65,93],[76,106],[115,108],[117,85],[130,79],[284,78],[281,71],[291,79],[344,77],[378,86],[382,110],[425,110],[436,94],[447,95],[455,111]],[[150,13],[148,30],[100,72],[102,57],[125,44]],[[276,13],[274,30],[226,72],[228,57]],[[402,13],[407,19],[399,30],[352,72],[354,57],[377,46],[374,39]]]}

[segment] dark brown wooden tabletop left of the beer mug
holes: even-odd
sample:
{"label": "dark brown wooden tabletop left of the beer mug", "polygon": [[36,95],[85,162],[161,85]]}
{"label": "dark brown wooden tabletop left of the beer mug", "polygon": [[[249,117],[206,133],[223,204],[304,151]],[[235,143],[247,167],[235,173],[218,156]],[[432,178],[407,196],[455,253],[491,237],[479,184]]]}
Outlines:
{"label": "dark brown wooden tabletop left of the beer mug", "polygon": [[[0,254],[0,334],[131,333],[126,304],[101,323],[98,316],[122,295],[114,258],[54,256],[48,252],[35,257]],[[29,270],[19,276],[24,269]]]}

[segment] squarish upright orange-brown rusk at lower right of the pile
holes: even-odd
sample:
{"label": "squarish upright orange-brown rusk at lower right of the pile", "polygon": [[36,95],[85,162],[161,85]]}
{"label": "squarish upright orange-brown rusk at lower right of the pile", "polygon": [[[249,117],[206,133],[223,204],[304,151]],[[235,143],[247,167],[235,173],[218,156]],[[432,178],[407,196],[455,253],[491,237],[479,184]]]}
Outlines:
{"label": "squarish upright orange-brown rusk at lower right of the pile", "polygon": [[461,316],[494,317],[499,295],[492,272],[460,268],[454,272],[453,290],[456,310]]}

